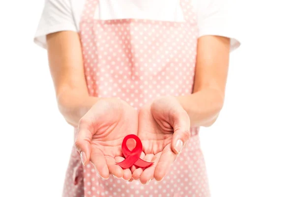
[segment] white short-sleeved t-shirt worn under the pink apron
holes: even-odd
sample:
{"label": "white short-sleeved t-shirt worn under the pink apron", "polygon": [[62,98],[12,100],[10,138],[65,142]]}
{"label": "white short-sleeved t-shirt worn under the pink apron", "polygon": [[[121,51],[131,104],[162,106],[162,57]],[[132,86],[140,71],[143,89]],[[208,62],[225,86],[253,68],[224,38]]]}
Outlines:
{"label": "white short-sleeved t-shirt worn under the pink apron", "polygon": [[[86,0],[46,0],[34,37],[46,48],[46,35],[60,31],[79,32],[79,23]],[[192,0],[198,18],[198,36],[220,35],[231,38],[231,50],[238,41],[237,24],[233,23],[229,0]],[[180,0],[99,0],[95,19],[148,19],[184,21]]]}

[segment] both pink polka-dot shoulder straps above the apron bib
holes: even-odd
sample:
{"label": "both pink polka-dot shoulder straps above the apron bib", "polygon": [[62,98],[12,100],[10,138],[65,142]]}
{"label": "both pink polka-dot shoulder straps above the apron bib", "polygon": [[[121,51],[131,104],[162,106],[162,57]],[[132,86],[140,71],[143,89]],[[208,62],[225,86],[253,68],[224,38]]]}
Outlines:
{"label": "both pink polka-dot shoulder straps above the apron bib", "polygon": [[[196,24],[197,14],[194,12],[192,0],[179,0],[182,14],[185,22]],[[82,20],[89,23],[94,19],[95,10],[99,5],[99,0],[86,0],[84,10],[82,13]]]}

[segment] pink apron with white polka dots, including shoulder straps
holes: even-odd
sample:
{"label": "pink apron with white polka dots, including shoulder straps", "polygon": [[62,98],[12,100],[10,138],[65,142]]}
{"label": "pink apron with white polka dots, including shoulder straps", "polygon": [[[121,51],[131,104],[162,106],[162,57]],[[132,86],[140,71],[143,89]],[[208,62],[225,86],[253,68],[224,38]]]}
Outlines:
{"label": "pink apron with white polka dots, including shoulder straps", "polygon": [[[139,109],[165,95],[191,94],[197,52],[197,20],[190,0],[180,0],[185,22],[94,20],[99,0],[86,0],[81,20],[89,94],[118,97]],[[199,128],[161,181],[148,185],[97,176],[73,148],[63,197],[209,197]]]}

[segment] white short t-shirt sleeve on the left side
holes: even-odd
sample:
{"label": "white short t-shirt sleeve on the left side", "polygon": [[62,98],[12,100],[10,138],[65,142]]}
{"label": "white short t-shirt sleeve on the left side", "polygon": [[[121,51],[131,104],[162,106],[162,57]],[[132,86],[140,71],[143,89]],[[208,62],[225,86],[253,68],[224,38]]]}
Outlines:
{"label": "white short t-shirt sleeve on the left side", "polygon": [[34,42],[46,49],[46,35],[60,31],[78,31],[72,13],[71,1],[46,0]]}

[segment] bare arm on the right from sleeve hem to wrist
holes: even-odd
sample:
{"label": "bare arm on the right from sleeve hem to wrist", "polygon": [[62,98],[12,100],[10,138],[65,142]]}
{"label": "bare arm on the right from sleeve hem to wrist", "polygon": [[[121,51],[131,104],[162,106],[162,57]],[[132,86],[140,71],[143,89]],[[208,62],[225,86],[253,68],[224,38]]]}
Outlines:
{"label": "bare arm on the right from sleeve hem to wrist", "polygon": [[223,106],[229,66],[230,39],[207,35],[198,40],[193,94],[178,97],[191,126],[211,126]]}

